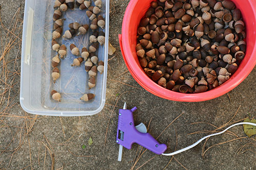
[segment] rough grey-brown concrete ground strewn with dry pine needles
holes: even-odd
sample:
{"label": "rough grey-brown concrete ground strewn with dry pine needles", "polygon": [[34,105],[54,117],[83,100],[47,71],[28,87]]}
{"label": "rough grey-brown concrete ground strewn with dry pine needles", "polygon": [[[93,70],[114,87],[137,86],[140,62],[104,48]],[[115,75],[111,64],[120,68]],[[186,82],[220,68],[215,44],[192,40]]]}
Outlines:
{"label": "rough grey-brown concrete ground strewn with dry pine needles", "polygon": [[[127,0],[113,0],[111,3],[110,42],[117,48],[117,52],[114,58],[109,56],[104,109],[94,116],[49,117],[25,113],[19,105],[21,30],[18,29],[22,28],[18,26],[22,24],[25,1],[0,0],[0,53],[1,56],[6,54],[0,62],[0,168],[256,169],[256,141],[246,137],[242,126],[232,128],[228,134],[211,137],[206,143],[201,142],[197,147],[175,157],[143,152],[144,149],[133,144],[131,150],[123,150],[122,161],[117,161],[117,113],[124,102],[127,102],[129,109],[138,107],[134,113],[135,123],[143,122],[146,126],[150,124],[150,133],[155,138],[182,114],[158,138],[160,143],[168,145],[166,152],[187,147],[209,131],[215,130],[214,126],[220,127],[231,119],[232,123],[256,116],[255,68],[228,94],[199,103],[158,98],[142,89],[129,72],[117,77],[127,70],[119,50],[118,34],[121,33],[122,16],[128,3]],[[9,28],[10,21],[19,8],[19,14],[16,15],[17,28],[13,30]],[[12,48],[8,47],[10,37],[15,40]],[[193,124],[197,122],[201,123]],[[190,134],[199,131],[202,133]],[[93,141],[91,145],[88,143],[90,137]],[[202,152],[205,152],[204,156]]]}

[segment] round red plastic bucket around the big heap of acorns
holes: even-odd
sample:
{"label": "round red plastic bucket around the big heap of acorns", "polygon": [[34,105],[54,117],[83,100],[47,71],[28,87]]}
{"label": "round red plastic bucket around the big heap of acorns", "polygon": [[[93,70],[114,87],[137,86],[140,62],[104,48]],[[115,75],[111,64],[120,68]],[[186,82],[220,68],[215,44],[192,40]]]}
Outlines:
{"label": "round red plastic bucket around the big heap of acorns", "polygon": [[241,10],[243,20],[246,25],[247,51],[238,70],[228,81],[212,90],[196,93],[184,94],[168,90],[159,86],[147,77],[139,64],[135,46],[137,43],[137,29],[140,19],[144,16],[151,2],[154,0],[131,0],[126,8],[123,23],[122,35],[119,35],[119,43],[123,59],[133,78],[147,91],[159,96],[160,98],[181,101],[181,102],[200,102],[206,101],[227,93],[238,86],[251,72],[256,64],[256,1],[255,0],[236,0],[233,1],[237,8]]}

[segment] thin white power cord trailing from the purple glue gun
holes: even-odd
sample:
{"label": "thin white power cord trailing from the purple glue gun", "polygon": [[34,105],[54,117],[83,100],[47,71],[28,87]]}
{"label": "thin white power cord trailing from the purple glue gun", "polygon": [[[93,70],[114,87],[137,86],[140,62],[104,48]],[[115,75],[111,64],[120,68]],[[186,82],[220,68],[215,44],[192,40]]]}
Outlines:
{"label": "thin white power cord trailing from the purple glue gun", "polygon": [[230,127],[228,127],[227,129],[225,129],[224,131],[221,131],[219,133],[215,133],[215,134],[211,134],[211,135],[208,135],[208,136],[205,136],[203,137],[202,139],[198,140],[196,143],[194,144],[191,144],[190,146],[186,147],[186,148],[183,148],[179,151],[176,151],[176,152],[172,152],[172,153],[169,153],[169,154],[162,154],[162,155],[165,155],[165,156],[172,156],[172,155],[176,155],[176,154],[179,154],[181,152],[184,152],[184,151],[187,151],[191,148],[194,148],[196,147],[196,145],[198,145],[201,141],[203,141],[204,139],[208,138],[208,137],[211,137],[211,136],[215,136],[215,135],[219,135],[219,134],[222,134],[224,132],[226,132],[228,129],[234,127],[234,126],[237,126],[237,125],[252,125],[252,126],[256,126],[256,124],[253,124],[253,123],[249,123],[249,122],[242,122],[242,123],[237,123],[237,124],[234,124],[234,125],[231,125]]}

